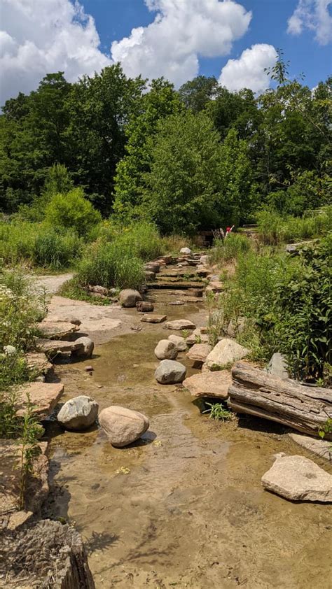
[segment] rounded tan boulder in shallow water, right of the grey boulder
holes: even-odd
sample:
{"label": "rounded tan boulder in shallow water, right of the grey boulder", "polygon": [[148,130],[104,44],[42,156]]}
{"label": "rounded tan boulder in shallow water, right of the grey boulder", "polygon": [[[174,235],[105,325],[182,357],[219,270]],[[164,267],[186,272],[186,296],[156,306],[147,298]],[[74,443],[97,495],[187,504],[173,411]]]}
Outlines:
{"label": "rounded tan boulder in shallow water, right of the grey boulder", "polygon": [[118,405],[112,405],[99,413],[99,423],[112,446],[123,448],[139,439],[148,429],[148,418]]}

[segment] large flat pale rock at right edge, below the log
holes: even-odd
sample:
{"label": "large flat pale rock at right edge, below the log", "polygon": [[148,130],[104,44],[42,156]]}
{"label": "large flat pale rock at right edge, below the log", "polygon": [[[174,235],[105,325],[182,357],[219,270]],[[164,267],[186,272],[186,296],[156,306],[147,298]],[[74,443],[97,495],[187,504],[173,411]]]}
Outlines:
{"label": "large flat pale rock at right edge, below the log", "polygon": [[265,489],[292,501],[332,502],[332,475],[304,456],[283,456],[262,476]]}

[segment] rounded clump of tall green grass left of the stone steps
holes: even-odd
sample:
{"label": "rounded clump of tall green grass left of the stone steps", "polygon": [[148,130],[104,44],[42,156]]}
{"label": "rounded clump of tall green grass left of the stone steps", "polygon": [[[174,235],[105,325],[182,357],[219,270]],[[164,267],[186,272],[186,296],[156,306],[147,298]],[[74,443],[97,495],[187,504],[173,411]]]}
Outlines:
{"label": "rounded clump of tall green grass left of the stone steps", "polygon": [[97,241],[78,265],[78,280],[83,285],[139,288],[144,283],[143,264],[122,243]]}

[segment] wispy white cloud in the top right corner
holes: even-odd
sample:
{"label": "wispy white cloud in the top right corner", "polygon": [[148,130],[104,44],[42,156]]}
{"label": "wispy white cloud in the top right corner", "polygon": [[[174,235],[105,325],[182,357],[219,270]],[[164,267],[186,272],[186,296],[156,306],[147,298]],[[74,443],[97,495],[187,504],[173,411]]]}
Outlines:
{"label": "wispy white cloud in the top right corner", "polygon": [[332,16],[328,6],[332,0],[298,0],[298,6],[288,20],[287,32],[300,35],[303,29],[314,31],[321,45],[332,41]]}

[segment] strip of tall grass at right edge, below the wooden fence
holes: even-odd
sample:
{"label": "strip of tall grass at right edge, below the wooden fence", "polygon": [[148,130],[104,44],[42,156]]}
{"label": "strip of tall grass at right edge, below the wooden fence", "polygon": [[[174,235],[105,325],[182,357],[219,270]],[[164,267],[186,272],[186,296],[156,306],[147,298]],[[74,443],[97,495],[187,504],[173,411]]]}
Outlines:
{"label": "strip of tall grass at right edge, below the wooden fence", "polygon": [[282,216],[276,211],[261,211],[257,215],[258,238],[265,245],[300,241],[325,235],[332,230],[332,206],[326,206],[310,218]]}

